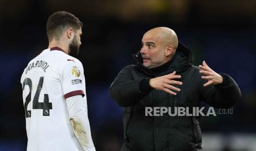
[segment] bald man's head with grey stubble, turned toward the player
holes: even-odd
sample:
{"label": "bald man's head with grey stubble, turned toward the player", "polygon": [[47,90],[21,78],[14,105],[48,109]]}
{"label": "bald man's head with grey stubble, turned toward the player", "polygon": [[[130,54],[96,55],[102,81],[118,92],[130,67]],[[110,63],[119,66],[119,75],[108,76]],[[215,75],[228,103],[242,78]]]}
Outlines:
{"label": "bald man's head with grey stubble, turned toward the player", "polygon": [[140,54],[143,65],[148,68],[161,66],[172,59],[178,47],[176,33],[167,27],[156,27],[146,32],[142,38]]}

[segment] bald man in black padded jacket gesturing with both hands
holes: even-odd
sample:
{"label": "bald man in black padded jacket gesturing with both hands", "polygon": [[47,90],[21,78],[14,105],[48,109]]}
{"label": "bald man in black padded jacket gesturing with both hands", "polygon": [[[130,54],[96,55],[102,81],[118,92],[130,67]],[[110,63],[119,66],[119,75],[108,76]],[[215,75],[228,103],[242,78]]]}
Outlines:
{"label": "bald man in black padded jacket gesturing with both hands", "polygon": [[[229,75],[216,73],[205,61],[193,66],[193,53],[167,27],[146,32],[136,65],[118,73],[110,95],[123,110],[126,150],[195,151],[201,148],[200,114],[177,114],[177,108],[230,108],[241,92]],[[186,111],[187,112],[187,111]]]}

